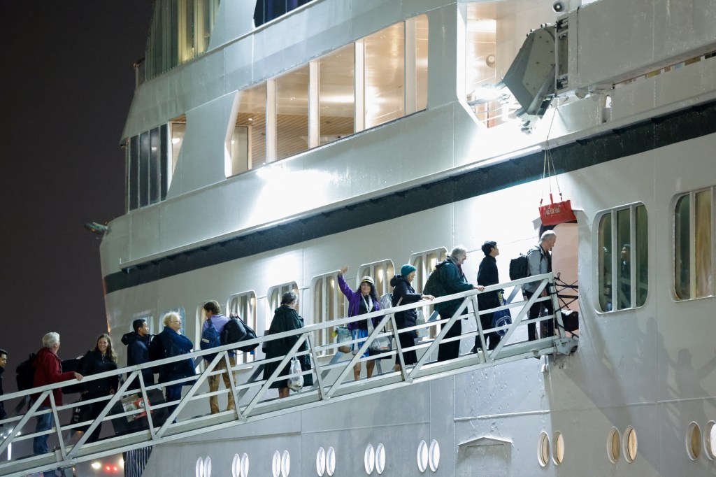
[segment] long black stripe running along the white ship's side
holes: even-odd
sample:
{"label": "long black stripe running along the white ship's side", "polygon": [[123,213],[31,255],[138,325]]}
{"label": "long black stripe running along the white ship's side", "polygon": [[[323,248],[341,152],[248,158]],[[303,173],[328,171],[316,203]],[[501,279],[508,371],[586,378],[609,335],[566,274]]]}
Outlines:
{"label": "long black stripe running along the white ship's side", "polygon": [[[578,140],[551,152],[557,173],[565,173],[711,133],[716,133],[716,101]],[[543,153],[538,152],[147,261],[105,276],[105,293],[528,183],[541,178],[542,168]]]}

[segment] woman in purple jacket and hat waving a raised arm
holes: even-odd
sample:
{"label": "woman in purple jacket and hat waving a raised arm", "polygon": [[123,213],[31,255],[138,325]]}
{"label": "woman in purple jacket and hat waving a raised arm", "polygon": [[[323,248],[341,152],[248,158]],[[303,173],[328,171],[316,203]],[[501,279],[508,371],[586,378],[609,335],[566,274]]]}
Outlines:
{"label": "woman in purple jacket and hat waving a raised arm", "polygon": [[[348,316],[357,317],[359,314],[366,314],[370,312],[377,312],[380,309],[380,301],[378,294],[375,291],[375,284],[373,279],[369,276],[364,276],[360,281],[359,290],[353,291],[350,286],[346,283],[343,275],[348,271],[348,266],[344,265],[342,269],[338,271],[338,285],[341,291],[348,299]],[[373,318],[373,327],[377,327],[379,319]],[[350,322],[348,329],[351,331],[353,339],[362,339],[357,343],[353,343],[353,353],[356,354],[359,348],[364,344],[365,338],[368,337],[368,320],[361,319],[357,322]],[[370,350],[366,350],[362,357],[367,358],[370,356]],[[357,362],[353,367],[353,379],[360,379],[360,362]],[[368,360],[365,365],[366,373],[368,377],[373,375],[375,369],[375,360]]]}

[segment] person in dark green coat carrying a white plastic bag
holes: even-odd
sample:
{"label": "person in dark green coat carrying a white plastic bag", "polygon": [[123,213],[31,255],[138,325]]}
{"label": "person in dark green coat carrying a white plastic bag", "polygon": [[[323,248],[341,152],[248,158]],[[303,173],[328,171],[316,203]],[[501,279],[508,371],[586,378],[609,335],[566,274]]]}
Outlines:
{"label": "person in dark green coat carrying a white plastic bag", "polygon": [[[304,327],[304,319],[296,312],[296,308],[299,306],[299,299],[293,291],[286,291],[283,297],[281,297],[281,306],[276,308],[274,312],[274,319],[271,320],[271,327],[269,328],[269,334],[276,334],[291,331],[291,329],[301,329]],[[266,359],[286,356],[291,348],[294,347],[296,341],[298,341],[299,335],[289,336],[280,339],[273,339],[269,341],[269,348],[266,350]],[[304,341],[304,344],[299,346],[296,352],[307,351],[309,349],[308,343]],[[309,355],[301,355],[299,357],[301,362],[301,370],[311,369],[311,358]],[[279,367],[280,362],[274,361],[263,365],[263,379],[268,380],[276,368]],[[290,365],[286,365],[283,370],[279,373],[279,376],[286,376],[290,374]],[[313,385],[313,375],[310,373],[304,375],[304,386]],[[279,397],[289,397],[289,380],[276,380],[271,383],[271,387],[279,389]]]}

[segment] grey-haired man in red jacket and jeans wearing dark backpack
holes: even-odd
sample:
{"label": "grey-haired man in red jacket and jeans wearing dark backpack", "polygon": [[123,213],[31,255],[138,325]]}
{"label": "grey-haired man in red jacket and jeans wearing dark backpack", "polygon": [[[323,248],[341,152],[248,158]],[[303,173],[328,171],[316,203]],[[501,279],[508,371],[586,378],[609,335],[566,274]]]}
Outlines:
{"label": "grey-haired man in red jacket and jeans wearing dark backpack", "polygon": [[[59,350],[59,334],[55,332],[47,333],[42,337],[42,348],[37,352],[32,365],[35,368],[35,376],[32,381],[32,387],[40,387],[51,385],[56,382],[62,382],[71,380],[73,377],[78,381],[82,381],[82,375],[79,372],[69,371],[62,372],[62,362],[57,357],[57,350]],[[55,407],[62,405],[62,387],[56,387],[52,390],[54,397]],[[34,393],[31,398],[37,400],[40,396],[39,392]],[[38,411],[50,410],[49,395],[44,398],[42,404],[37,408]],[[35,432],[41,433],[46,430],[52,429],[52,412],[38,415],[37,425],[35,426]],[[49,450],[47,449],[47,437],[49,434],[37,435],[32,440],[32,450],[35,456],[41,456],[46,454]],[[52,473],[47,473],[47,476],[54,476]]]}

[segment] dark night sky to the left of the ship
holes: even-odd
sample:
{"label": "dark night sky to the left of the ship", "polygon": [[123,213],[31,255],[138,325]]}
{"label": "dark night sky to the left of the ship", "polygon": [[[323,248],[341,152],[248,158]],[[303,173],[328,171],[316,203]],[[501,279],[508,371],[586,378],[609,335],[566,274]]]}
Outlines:
{"label": "dark night sky to the left of the ship", "polygon": [[[100,237],[125,208],[119,143],[151,0],[0,0],[0,348],[15,367],[61,334],[63,359],[107,331]],[[115,347],[122,344],[115,343]],[[123,363],[120,363],[122,365]]]}

